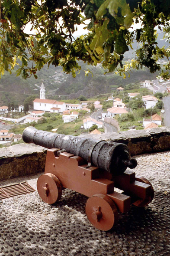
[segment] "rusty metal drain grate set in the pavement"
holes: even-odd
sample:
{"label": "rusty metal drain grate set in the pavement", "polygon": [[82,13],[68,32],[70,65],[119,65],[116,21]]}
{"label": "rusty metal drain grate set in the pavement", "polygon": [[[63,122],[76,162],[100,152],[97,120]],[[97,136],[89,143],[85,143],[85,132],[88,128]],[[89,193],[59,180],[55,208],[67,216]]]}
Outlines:
{"label": "rusty metal drain grate set in the pavement", "polygon": [[23,194],[29,194],[34,191],[35,190],[26,181],[22,183],[8,185],[5,187],[0,187],[0,200]]}

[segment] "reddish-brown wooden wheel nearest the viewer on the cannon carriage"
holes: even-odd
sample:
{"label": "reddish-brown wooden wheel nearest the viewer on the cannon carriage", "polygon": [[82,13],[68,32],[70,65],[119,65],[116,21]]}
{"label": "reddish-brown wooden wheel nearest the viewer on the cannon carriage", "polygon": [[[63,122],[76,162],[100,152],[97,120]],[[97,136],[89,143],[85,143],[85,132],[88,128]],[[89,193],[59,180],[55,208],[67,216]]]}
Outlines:
{"label": "reddish-brown wooden wheel nearest the viewer on the cannon carriage", "polygon": [[96,194],[86,202],[86,214],[98,230],[110,230],[118,220],[115,203],[106,195]]}

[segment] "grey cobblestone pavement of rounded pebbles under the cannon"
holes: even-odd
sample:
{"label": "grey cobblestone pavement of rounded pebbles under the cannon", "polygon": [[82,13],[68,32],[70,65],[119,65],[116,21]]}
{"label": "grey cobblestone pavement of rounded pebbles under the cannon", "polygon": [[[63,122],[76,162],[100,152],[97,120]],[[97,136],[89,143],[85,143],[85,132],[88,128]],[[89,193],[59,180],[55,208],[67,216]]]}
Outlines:
{"label": "grey cobblestone pavement of rounded pebbles under the cannon", "polygon": [[[87,197],[64,190],[55,205],[37,192],[0,201],[0,256],[164,256],[170,255],[170,151],[136,156],[137,174],[153,184],[155,197],[145,208],[119,215],[113,230],[96,230],[85,215]],[[36,188],[37,176],[28,181]]]}

